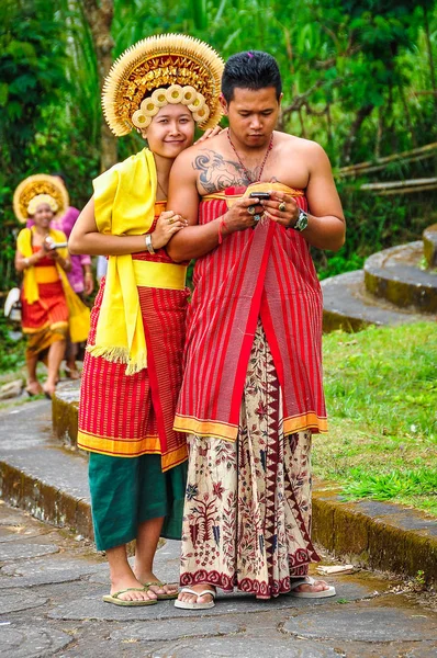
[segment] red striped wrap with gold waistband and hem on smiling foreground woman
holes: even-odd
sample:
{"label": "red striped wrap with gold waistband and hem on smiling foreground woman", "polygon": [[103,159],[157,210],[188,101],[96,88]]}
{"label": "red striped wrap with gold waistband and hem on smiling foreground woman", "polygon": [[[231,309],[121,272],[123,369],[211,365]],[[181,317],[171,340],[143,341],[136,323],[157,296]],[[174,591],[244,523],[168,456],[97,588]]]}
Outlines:
{"label": "red striped wrap with gold waistband and hem on smiling foreground woman", "polygon": [[[164,209],[164,204],[156,204],[157,216]],[[90,349],[83,362],[78,445],[113,456],[158,454],[163,470],[168,470],[187,460],[186,436],[172,429],[182,379],[186,266],[173,263],[164,249],[155,254],[133,254],[132,262],[147,368],[127,375],[125,362],[92,353],[105,293],[103,277],[91,313]],[[153,285],[156,269],[161,287]]]}

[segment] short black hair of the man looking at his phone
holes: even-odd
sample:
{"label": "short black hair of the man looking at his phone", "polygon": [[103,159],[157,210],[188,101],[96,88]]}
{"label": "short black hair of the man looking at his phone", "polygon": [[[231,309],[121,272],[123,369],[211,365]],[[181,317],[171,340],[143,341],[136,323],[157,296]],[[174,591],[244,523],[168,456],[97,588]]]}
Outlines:
{"label": "short black hair of the man looking at his phone", "polygon": [[248,50],[232,55],[225,64],[222,78],[222,93],[226,103],[234,99],[234,89],[266,89],[274,87],[277,99],[282,93],[282,80],[278,63],[268,53]]}

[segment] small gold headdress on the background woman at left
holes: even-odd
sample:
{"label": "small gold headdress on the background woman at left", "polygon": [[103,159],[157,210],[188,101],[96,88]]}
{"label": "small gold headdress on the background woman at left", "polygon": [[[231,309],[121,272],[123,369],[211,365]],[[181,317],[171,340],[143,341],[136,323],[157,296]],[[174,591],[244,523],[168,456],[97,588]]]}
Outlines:
{"label": "small gold headdress on the background woman at left", "polygon": [[13,212],[22,224],[33,215],[41,203],[47,203],[55,217],[61,217],[69,206],[68,192],[53,175],[37,173],[24,179],[13,194]]}

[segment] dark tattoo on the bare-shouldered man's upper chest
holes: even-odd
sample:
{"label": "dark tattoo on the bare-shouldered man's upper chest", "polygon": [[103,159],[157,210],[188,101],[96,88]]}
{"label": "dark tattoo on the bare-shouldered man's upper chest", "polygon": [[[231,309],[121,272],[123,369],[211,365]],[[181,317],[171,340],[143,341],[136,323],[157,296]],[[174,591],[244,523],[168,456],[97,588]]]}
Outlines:
{"label": "dark tattoo on the bare-shouldered man's upper chest", "polygon": [[258,180],[260,172],[260,167],[248,169],[251,177],[249,180],[239,162],[225,160],[223,156],[210,149],[203,149],[195,158],[193,169],[200,171],[199,182],[208,194],[232,186],[247,188],[251,182]]}

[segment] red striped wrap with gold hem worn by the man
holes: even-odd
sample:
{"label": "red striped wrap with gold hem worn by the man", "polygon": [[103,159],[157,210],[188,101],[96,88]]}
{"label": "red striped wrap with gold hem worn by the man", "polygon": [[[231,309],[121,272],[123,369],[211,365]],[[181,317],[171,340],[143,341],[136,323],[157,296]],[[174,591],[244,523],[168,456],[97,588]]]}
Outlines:
{"label": "red striped wrap with gold hem worn by the man", "polygon": [[[302,190],[279,183],[306,209]],[[199,223],[233,200],[266,189],[228,189],[200,204]],[[232,234],[200,258],[188,321],[175,429],[235,441],[247,364],[261,318],[282,390],[284,434],[327,431],[322,386],[322,291],[307,242],[271,220]]]}

